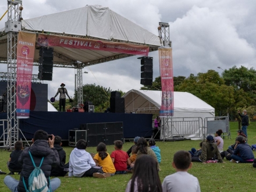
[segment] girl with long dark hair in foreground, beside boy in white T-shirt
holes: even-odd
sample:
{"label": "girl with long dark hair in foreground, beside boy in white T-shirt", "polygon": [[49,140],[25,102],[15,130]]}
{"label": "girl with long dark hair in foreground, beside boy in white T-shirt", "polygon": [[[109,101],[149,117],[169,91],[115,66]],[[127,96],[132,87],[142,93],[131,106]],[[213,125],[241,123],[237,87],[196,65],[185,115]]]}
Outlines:
{"label": "girl with long dark hair in foreground, beside boy in white T-shirt", "polygon": [[136,159],[134,172],[127,183],[126,192],[154,191],[162,192],[158,175],[158,162],[150,155],[141,155]]}

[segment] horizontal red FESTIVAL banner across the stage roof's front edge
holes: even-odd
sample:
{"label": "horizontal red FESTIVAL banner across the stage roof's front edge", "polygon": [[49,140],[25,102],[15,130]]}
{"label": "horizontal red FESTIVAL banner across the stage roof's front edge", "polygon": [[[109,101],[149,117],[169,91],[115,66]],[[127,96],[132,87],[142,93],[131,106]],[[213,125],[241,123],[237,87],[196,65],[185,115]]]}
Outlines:
{"label": "horizontal red FESTIVAL banner across the stage roof's front edge", "polygon": [[133,45],[122,42],[108,42],[100,40],[90,40],[87,38],[64,37],[59,35],[46,34],[38,34],[37,45],[39,47],[45,46],[91,49],[143,56],[148,56],[148,52],[150,50],[150,47],[146,45]]}

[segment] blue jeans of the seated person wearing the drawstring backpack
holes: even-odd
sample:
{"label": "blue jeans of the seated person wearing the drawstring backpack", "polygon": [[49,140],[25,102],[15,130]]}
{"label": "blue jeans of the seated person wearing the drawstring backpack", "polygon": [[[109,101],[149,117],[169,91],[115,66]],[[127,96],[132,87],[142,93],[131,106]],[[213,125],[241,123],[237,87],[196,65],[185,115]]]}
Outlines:
{"label": "blue jeans of the seated person wearing the drawstring backpack", "polygon": [[[17,190],[17,186],[19,184],[18,180],[8,175],[5,177],[5,179],[3,179],[3,182],[9,188],[10,191],[18,192]],[[59,178],[54,178],[54,179],[51,179],[50,183],[51,183],[51,191],[55,191],[61,185],[61,180]]]}

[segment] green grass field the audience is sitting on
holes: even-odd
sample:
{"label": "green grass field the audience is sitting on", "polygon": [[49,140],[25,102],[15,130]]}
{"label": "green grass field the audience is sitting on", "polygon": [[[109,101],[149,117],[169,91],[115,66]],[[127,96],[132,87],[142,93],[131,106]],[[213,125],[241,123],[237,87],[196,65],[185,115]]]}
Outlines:
{"label": "green grass field the audience is sitting on", "polygon": [[[232,139],[224,139],[224,149],[226,150],[230,144],[234,143],[237,136],[237,122],[230,122]],[[251,122],[248,126],[248,144],[256,144],[256,122]],[[255,138],[254,138],[255,137]],[[175,172],[171,163],[173,154],[179,150],[190,150],[191,147],[198,148],[200,141],[186,140],[186,141],[158,141],[157,145],[161,149],[161,171],[159,176],[161,181],[165,176]],[[127,151],[131,142],[126,142],[123,145],[123,150]],[[113,145],[107,146],[108,152],[111,153],[114,150]],[[69,160],[70,152],[73,147],[64,147],[67,154],[67,161]],[[96,147],[88,147],[88,152],[96,153]],[[6,162],[9,159],[10,152],[1,150],[1,166],[0,169],[3,172],[9,173],[6,167]],[[256,156],[256,154],[255,154]],[[251,163],[231,163],[224,160],[226,163],[193,163],[189,173],[196,176],[200,182],[201,191],[256,191],[256,169],[253,168]],[[0,175],[0,191],[8,191],[8,188],[3,183],[5,175]],[[19,175],[14,175],[16,179],[19,179]],[[90,177],[61,177],[61,187],[57,191],[71,192],[71,191],[125,191],[126,184],[131,177],[131,173],[126,175],[115,175],[107,179],[96,179]]]}

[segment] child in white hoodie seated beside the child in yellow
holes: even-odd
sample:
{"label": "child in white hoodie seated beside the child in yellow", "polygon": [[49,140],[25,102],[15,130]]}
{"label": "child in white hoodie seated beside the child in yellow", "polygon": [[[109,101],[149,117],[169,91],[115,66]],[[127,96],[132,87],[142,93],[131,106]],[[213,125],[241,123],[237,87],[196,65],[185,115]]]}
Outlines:
{"label": "child in white hoodie seated beside the child in yellow", "polygon": [[87,143],[85,140],[79,140],[76,148],[69,157],[69,176],[76,177],[97,177],[106,178],[110,173],[104,173],[102,169],[94,168],[96,163],[90,153],[86,151]]}

